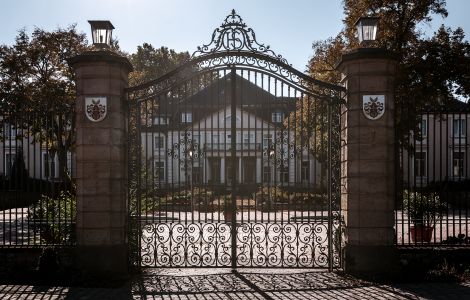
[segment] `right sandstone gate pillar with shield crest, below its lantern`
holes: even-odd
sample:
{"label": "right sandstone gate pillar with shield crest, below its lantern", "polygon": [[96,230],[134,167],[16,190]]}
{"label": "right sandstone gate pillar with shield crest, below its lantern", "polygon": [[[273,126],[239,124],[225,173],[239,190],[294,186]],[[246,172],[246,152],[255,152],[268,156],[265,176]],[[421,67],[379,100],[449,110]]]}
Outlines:
{"label": "right sandstone gate pillar with shield crest, below its lantern", "polygon": [[346,272],[380,273],[394,263],[396,66],[385,50],[362,48],[344,54],[337,67],[347,89],[341,109]]}

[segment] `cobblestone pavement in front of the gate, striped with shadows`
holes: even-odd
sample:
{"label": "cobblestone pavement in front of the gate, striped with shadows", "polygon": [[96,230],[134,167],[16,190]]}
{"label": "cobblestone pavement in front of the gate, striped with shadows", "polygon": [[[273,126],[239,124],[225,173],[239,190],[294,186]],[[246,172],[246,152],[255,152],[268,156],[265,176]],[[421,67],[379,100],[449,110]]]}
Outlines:
{"label": "cobblestone pavement in front of the gate, striped with shadows", "polygon": [[117,289],[0,285],[0,299],[470,299],[469,283],[374,284],[311,270],[147,271]]}

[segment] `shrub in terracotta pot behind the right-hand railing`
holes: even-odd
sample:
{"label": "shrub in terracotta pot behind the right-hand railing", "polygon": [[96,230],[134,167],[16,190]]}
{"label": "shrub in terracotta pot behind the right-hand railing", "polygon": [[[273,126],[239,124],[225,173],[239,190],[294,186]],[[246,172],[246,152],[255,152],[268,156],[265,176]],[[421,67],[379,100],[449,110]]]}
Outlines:
{"label": "shrub in terracotta pot behind the right-hand railing", "polygon": [[405,191],[403,197],[403,210],[413,223],[410,226],[411,241],[429,243],[434,225],[442,218],[446,206],[435,192]]}

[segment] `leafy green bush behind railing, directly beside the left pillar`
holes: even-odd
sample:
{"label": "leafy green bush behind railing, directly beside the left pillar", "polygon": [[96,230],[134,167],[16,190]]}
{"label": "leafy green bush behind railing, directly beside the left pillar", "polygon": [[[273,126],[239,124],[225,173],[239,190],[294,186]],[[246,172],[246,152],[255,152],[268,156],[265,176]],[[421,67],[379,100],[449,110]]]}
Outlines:
{"label": "leafy green bush behind railing, directly beside the left pillar", "polygon": [[42,196],[29,207],[28,219],[36,224],[41,240],[46,244],[75,243],[77,199],[75,191],[61,191],[57,198]]}

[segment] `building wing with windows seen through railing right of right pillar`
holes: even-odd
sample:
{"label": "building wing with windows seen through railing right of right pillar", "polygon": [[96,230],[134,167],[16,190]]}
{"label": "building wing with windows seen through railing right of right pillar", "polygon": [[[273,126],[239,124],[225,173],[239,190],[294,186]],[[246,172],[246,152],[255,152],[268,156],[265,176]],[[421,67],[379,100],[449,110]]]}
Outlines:
{"label": "building wing with windows seen through railing right of right pillar", "polygon": [[402,152],[406,185],[470,179],[470,107],[454,100],[420,116],[418,134]]}

